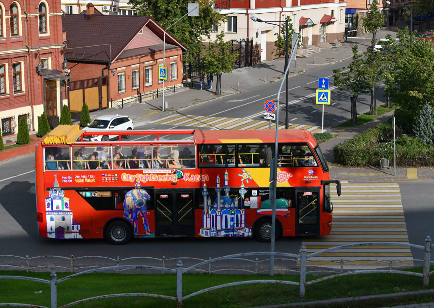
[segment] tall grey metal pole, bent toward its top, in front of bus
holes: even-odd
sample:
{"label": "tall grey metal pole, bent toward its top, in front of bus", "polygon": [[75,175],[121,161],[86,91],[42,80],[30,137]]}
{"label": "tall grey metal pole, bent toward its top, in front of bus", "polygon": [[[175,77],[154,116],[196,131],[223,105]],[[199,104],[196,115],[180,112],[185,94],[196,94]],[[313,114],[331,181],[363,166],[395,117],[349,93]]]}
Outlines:
{"label": "tall grey metal pole, bent toward its top, in front of bus", "polygon": [[[291,57],[289,58],[289,61],[286,65],[286,70],[284,73],[283,79],[286,79],[288,76],[288,70],[289,65],[291,64],[291,61],[293,60],[296,46],[298,44],[298,33],[293,33],[293,48],[291,50]],[[279,91],[277,91],[277,106],[276,106],[276,137],[274,141],[274,159],[273,159],[273,193],[272,193],[272,203],[273,203],[273,214],[271,215],[271,247],[270,252],[274,252],[274,246],[275,246],[275,234],[276,234],[276,192],[277,192],[277,152],[279,150],[278,144],[279,144],[279,99],[280,99],[280,91],[283,87],[283,81],[280,83]],[[271,168],[270,168],[271,170]],[[274,255],[270,256],[270,276],[274,276]]]}

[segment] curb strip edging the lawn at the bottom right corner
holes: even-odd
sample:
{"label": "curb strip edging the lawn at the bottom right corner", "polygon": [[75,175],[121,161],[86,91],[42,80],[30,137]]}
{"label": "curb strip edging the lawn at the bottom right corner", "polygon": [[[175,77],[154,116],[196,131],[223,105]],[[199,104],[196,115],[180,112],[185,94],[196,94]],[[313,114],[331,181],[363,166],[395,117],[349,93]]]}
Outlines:
{"label": "curb strip edging the lawn at the bottom right corner", "polygon": [[381,300],[381,299],[389,299],[389,298],[403,298],[403,297],[416,297],[418,295],[434,295],[434,289],[429,290],[421,290],[421,291],[410,291],[410,292],[398,292],[392,294],[379,294],[379,295],[365,295],[365,296],[357,296],[357,297],[344,297],[344,298],[333,298],[326,299],[322,301],[305,301],[299,303],[288,303],[282,305],[271,305],[271,306],[257,306],[250,308],[279,308],[279,307],[323,307],[323,306],[331,306],[331,305],[339,305],[343,304],[351,307],[351,304],[357,303],[358,307],[363,307],[362,301],[372,301],[372,300]]}

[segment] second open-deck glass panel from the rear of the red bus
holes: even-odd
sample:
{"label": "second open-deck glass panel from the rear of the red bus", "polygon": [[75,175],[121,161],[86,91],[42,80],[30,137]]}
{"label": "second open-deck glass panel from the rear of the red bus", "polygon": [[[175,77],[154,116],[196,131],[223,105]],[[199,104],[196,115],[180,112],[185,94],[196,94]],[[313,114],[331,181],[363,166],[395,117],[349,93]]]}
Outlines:
{"label": "second open-deck glass panel from the rear of the red bus", "polygon": [[109,169],[110,146],[72,147],[72,169]]}

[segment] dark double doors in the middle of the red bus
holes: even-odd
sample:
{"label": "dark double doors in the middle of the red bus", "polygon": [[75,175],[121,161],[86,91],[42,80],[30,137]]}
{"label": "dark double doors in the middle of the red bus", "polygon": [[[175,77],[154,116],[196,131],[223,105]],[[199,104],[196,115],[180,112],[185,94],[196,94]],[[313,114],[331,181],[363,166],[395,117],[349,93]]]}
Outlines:
{"label": "dark double doors in the middle of the red bus", "polygon": [[156,192],[157,236],[194,236],[194,192]]}

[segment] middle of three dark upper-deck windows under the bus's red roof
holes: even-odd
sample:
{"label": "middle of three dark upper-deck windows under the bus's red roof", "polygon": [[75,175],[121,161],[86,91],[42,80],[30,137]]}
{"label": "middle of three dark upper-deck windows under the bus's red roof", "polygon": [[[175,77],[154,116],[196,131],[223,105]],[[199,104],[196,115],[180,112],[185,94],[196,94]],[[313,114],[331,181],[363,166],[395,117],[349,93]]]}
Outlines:
{"label": "middle of three dark upper-deck windows under the bus's red roof", "polygon": [[240,144],[238,145],[238,166],[270,166],[273,158],[272,145]]}

